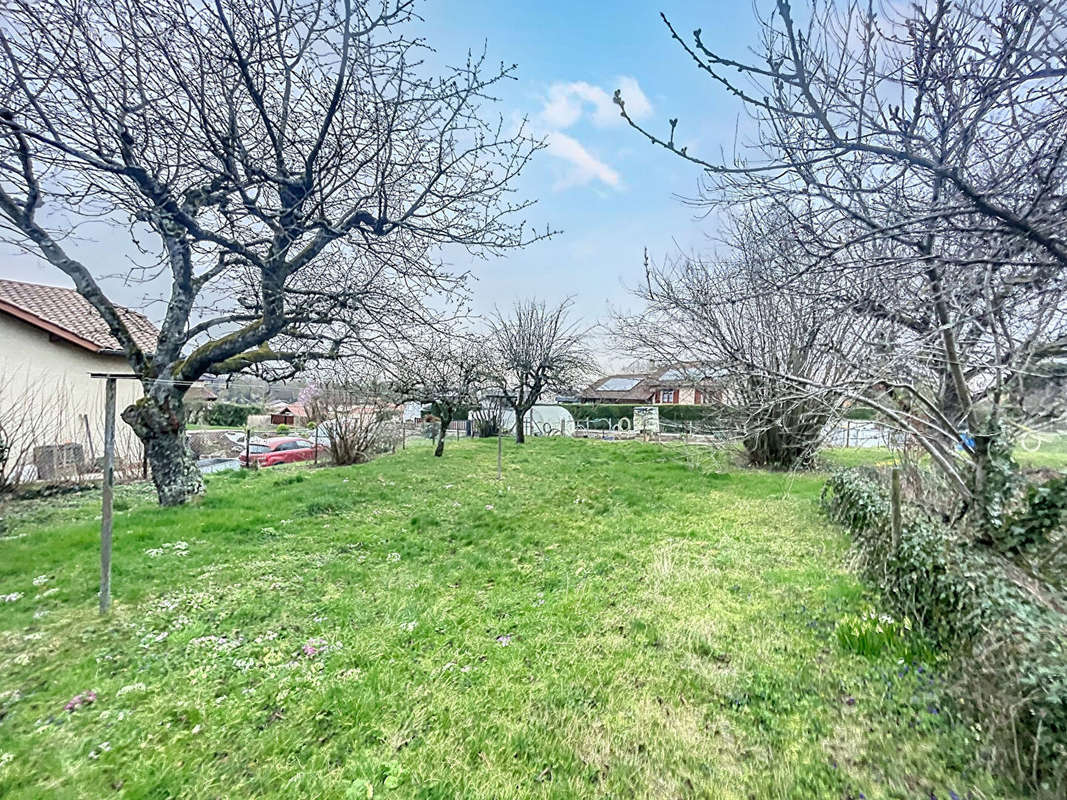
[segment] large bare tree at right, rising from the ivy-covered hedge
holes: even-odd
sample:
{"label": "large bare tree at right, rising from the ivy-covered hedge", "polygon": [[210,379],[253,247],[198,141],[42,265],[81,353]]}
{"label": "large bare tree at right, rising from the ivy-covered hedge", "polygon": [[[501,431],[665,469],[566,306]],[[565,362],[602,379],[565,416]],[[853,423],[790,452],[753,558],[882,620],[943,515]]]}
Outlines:
{"label": "large bare tree at right, rising from the ivy-covered hedge", "polygon": [[[800,245],[777,289],[857,320],[875,362],[796,386],[908,431],[986,529],[1013,490],[1010,443],[1063,409],[1022,401],[1067,354],[1064,2],[931,0],[885,11],[776,0],[760,59],[669,34],[752,117],[734,159],[698,165],[698,203],[773,205]],[[1053,413],[1049,413],[1053,412]]]}

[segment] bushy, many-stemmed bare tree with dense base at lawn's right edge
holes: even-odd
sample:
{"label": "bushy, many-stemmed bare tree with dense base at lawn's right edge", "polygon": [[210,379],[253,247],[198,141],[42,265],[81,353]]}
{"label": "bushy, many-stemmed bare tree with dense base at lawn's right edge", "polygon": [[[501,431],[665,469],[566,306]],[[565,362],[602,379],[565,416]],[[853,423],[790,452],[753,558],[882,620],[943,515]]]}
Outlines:
{"label": "bushy, many-stemmed bare tree with dense base at lawn's right edge", "polygon": [[720,423],[743,442],[750,464],[812,467],[843,405],[833,387],[871,349],[855,319],[779,291],[798,246],[787,220],[773,211],[735,217],[729,242],[707,258],[647,262],[644,285],[634,291],[643,307],[615,315],[615,338],[626,352],[713,380],[724,406]]}

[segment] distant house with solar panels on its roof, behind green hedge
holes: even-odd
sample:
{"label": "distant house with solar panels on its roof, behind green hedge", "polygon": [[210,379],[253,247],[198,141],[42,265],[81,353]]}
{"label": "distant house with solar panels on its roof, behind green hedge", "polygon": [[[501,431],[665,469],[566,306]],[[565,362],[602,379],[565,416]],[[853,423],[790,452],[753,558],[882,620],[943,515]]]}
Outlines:
{"label": "distant house with solar panels on its roof, behind green hedge", "polygon": [[717,398],[715,381],[695,365],[675,364],[648,372],[605,375],[578,393],[583,403],[634,405],[702,404]]}

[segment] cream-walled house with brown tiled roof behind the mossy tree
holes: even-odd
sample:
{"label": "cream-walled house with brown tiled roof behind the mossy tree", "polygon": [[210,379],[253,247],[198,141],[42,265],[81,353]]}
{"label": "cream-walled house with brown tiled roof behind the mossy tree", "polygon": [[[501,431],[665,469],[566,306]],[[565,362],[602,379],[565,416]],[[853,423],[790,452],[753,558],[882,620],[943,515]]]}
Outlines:
{"label": "cream-walled house with brown tiled roof behind the mossy tree", "polygon": [[[159,332],[143,315],[118,314],[138,345],[156,349]],[[102,454],[103,382],[92,372],[129,374],[122,348],[93,306],[74,289],[0,279],[0,426],[9,470],[50,478],[92,466]],[[118,409],[141,397],[138,381],[118,381]],[[140,459],[125,423],[120,460]]]}

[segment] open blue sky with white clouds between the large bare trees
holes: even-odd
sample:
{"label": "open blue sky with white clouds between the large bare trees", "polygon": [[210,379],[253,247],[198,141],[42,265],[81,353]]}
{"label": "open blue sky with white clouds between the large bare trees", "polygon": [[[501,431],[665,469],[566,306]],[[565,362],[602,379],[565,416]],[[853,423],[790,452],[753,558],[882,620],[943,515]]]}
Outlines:
{"label": "open blue sky with white clouds between the large bare trees", "polygon": [[[456,269],[471,269],[474,307],[484,313],[519,298],[556,301],[574,295],[576,310],[592,322],[610,305],[626,305],[626,285],[641,277],[644,247],[653,258],[684,249],[707,247],[712,220],[676,195],[692,195],[699,171],[653,147],[624,126],[610,103],[622,87],[627,107],[642,122],[665,131],[680,118],[678,140],[690,149],[730,149],[738,105],[702,79],[670,39],[664,11],[682,32],[702,28],[705,42],[726,54],[744,55],[757,41],[752,6],[718,0],[700,4],[640,0],[427,0],[419,33],[437,58],[459,63],[467,48],[488,47],[489,61],[517,64],[517,80],[499,93],[494,113],[526,115],[550,146],[523,176],[521,194],[538,198],[531,222],[563,233],[503,258],[451,256]],[[85,231],[75,249],[98,271],[122,273],[128,235]],[[0,276],[66,284],[32,256],[0,250]],[[109,282],[116,299],[145,307],[144,286]],[[160,305],[147,305],[159,316]]]}

